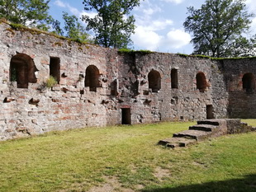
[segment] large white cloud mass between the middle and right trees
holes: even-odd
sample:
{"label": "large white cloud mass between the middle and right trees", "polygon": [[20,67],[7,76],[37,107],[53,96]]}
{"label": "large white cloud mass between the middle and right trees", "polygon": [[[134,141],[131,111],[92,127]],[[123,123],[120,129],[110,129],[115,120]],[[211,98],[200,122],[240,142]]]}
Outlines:
{"label": "large white cloud mass between the middle and right trees", "polygon": [[[164,0],[161,0],[164,1]],[[180,3],[183,0],[170,1]],[[135,46],[152,51],[166,51],[168,49],[179,49],[190,43],[191,36],[184,30],[169,30],[174,26],[171,19],[162,18],[157,12],[163,12],[156,3],[153,5],[149,0],[141,3],[140,9],[135,11],[135,34],[131,35]]]}

